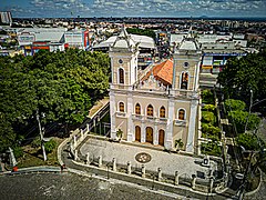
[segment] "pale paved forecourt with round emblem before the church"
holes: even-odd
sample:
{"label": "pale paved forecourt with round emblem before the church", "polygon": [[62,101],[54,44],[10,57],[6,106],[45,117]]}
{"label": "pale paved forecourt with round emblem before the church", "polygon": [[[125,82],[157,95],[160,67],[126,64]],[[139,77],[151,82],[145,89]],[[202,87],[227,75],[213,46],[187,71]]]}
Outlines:
{"label": "pale paved forecourt with round emblem before the church", "polygon": [[[203,159],[193,158],[187,156],[182,156],[178,153],[168,153],[162,150],[149,149],[126,143],[110,142],[105,140],[99,140],[90,138],[80,148],[81,154],[83,157],[86,153],[90,153],[90,159],[96,160],[99,156],[102,156],[103,161],[112,162],[113,158],[116,159],[117,164],[126,166],[127,161],[132,163],[133,168],[141,168],[142,162],[136,161],[136,156],[144,152],[145,154],[151,156],[151,160],[145,164],[146,170],[157,171],[157,168],[162,169],[163,174],[174,176],[175,171],[178,171],[178,174],[184,174],[192,177],[192,174],[203,174],[207,177],[209,170],[215,171],[217,169],[217,163],[211,161],[211,167],[203,167],[201,162]],[[145,157],[144,157],[145,159]]]}

